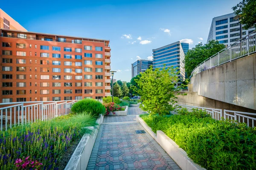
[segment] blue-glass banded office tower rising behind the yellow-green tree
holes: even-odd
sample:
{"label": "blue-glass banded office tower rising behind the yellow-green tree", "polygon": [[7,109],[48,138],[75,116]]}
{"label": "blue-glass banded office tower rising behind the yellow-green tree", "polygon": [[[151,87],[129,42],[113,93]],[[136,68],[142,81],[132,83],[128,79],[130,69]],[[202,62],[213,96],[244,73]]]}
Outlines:
{"label": "blue-glass banded office tower rising behind the yellow-green tree", "polygon": [[185,57],[184,51],[187,52],[188,50],[189,44],[180,41],[153,49],[153,68],[162,69],[164,65],[166,67],[173,66],[174,68],[177,68],[177,71],[180,71],[180,74],[178,74],[180,82],[177,82],[176,86],[180,85],[181,82],[185,80],[183,60]]}

